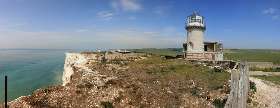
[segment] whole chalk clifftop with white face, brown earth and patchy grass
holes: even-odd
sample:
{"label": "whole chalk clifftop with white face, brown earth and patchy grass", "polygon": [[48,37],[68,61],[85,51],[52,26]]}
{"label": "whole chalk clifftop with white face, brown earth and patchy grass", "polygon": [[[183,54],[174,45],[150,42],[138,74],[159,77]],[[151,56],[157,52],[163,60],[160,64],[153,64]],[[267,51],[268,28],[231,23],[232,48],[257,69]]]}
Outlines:
{"label": "whole chalk clifftop with white face, brown earth and patchy grass", "polygon": [[[31,95],[8,102],[9,107],[213,108],[213,99],[228,96],[220,92],[221,87],[226,87],[226,79],[217,79],[217,87],[207,88],[209,85],[204,83],[208,82],[203,79],[206,72],[210,75],[207,67],[196,67],[184,60],[157,57],[106,60],[101,53],[65,54],[63,86],[37,89]],[[201,68],[203,72],[197,73]],[[196,95],[193,90],[197,91]]]}

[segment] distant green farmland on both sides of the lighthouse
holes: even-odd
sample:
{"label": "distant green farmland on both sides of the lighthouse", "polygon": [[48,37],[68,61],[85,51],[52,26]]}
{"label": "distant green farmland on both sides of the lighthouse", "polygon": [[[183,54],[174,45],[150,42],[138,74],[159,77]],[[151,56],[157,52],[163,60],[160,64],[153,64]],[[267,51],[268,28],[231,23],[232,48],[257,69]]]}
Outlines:
{"label": "distant green farmland on both sides of the lighthouse", "polygon": [[[182,55],[182,49],[122,49],[127,51],[144,52],[153,55]],[[227,54],[226,54],[227,53]],[[247,62],[273,62],[274,65],[280,64],[280,50],[275,49],[224,49],[224,57],[229,60],[243,60]],[[224,58],[225,60],[225,58]]]}

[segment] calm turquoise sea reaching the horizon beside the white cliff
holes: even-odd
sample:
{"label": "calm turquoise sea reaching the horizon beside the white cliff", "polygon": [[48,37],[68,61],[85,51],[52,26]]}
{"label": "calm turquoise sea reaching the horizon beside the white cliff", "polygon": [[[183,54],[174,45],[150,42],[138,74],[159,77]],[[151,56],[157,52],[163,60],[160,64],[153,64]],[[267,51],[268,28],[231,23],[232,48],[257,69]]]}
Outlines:
{"label": "calm turquoise sea reaching the horizon beside the white cliff", "polygon": [[[4,88],[7,75],[7,101],[31,95],[42,87],[63,84],[65,52],[70,49],[0,49],[0,104],[5,102]],[[91,50],[91,51],[98,51]]]}

